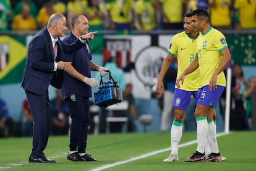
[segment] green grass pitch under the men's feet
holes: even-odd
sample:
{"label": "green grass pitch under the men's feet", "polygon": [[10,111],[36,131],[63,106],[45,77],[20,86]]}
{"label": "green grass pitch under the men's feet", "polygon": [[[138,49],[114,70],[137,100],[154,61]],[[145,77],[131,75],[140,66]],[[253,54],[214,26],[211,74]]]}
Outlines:
{"label": "green grass pitch under the men's feet", "polygon": [[[184,132],[181,144],[195,140],[195,132]],[[56,164],[30,164],[28,157],[32,138],[0,140],[0,171],[2,170],[91,170],[106,164],[126,161],[132,157],[169,148],[169,133],[126,133],[89,135],[87,153],[99,162],[67,161],[69,136],[50,136],[45,155]],[[169,151],[148,156],[106,170],[256,170],[256,131],[237,131],[218,137],[220,152],[227,161],[186,163],[196,144],[179,149],[179,162],[163,162]]]}

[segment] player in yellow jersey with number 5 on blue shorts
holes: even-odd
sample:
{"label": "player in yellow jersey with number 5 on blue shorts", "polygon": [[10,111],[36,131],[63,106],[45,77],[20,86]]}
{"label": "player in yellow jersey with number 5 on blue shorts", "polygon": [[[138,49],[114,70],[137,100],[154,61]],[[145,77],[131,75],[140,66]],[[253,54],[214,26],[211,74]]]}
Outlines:
{"label": "player in yellow jersey with number 5 on blue shorts", "polygon": [[213,114],[216,104],[224,91],[226,78],[223,70],[231,60],[231,55],[225,36],[211,27],[206,10],[197,9],[192,12],[192,26],[195,31],[202,33],[202,36],[197,40],[197,54],[189,67],[176,80],[176,86],[181,88],[184,80],[186,80],[185,75],[194,72],[198,68],[200,70],[198,101],[195,109],[197,151],[185,161],[202,161],[205,154],[206,140],[211,146],[211,159],[213,161],[221,161],[220,151],[218,145],[216,145],[216,136],[207,135],[207,131],[216,132],[214,123],[209,121],[207,123],[207,115]]}

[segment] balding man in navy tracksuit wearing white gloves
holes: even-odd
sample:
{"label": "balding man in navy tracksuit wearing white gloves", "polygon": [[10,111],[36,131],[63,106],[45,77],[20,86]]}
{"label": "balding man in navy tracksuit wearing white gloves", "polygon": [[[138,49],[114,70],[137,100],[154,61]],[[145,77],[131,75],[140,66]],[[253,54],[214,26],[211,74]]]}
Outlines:
{"label": "balding man in navy tracksuit wearing white gloves", "polygon": [[[88,32],[88,19],[84,15],[72,18],[72,32],[64,38],[65,43],[72,43]],[[88,126],[90,125],[91,87],[98,86],[98,81],[91,78],[91,70],[106,75],[105,67],[92,62],[89,41],[83,48],[71,55],[66,55],[66,61],[72,62],[65,67],[64,83],[61,88],[62,98],[66,100],[72,123],[70,125],[70,143],[67,159],[70,161],[97,161],[86,152]]]}

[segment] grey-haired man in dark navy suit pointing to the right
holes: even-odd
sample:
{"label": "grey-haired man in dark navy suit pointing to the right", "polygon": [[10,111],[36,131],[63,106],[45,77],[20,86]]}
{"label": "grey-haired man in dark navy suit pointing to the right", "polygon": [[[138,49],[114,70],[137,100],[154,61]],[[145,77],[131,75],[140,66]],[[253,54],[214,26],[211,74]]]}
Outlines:
{"label": "grey-haired man in dark navy suit pointing to the right", "polygon": [[[28,162],[50,162],[44,154],[48,143],[51,114],[49,109],[48,86],[61,88],[63,70],[70,62],[64,62],[64,53],[84,46],[85,40],[93,39],[97,31],[80,36],[73,44],[65,44],[59,36],[67,31],[66,17],[62,14],[51,15],[48,25],[36,33],[28,45],[28,57],[23,73],[22,87],[25,90],[33,115],[33,148]],[[98,85],[93,78],[88,84]]]}

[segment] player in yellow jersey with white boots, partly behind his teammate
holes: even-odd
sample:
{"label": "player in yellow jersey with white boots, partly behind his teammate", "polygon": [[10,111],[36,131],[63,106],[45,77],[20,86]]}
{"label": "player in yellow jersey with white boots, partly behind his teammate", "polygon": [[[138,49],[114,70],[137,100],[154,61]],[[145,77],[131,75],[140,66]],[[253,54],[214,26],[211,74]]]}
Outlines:
{"label": "player in yellow jersey with white boots, partly behind his teammate", "polygon": [[[194,31],[194,28],[191,25],[192,23],[192,14],[186,14],[184,17],[184,31],[174,35],[173,40],[168,49],[168,54],[163,60],[161,66],[161,71],[158,79],[158,84],[156,86],[156,92],[158,94],[163,94],[164,85],[163,78],[166,74],[169,65],[175,56],[177,56],[178,71],[177,76],[187,68],[187,66],[192,62],[195,57],[196,43],[198,37],[201,35],[200,32]],[[179,141],[182,136],[182,123],[184,121],[185,112],[189,107],[190,97],[193,95],[195,101],[197,102],[197,91],[198,91],[198,82],[199,82],[199,70],[195,71],[188,75],[188,79],[181,85],[180,89],[175,89],[174,92],[174,120],[171,127],[171,154],[167,159],[164,159],[164,162],[173,162],[179,161],[178,149]]]}

